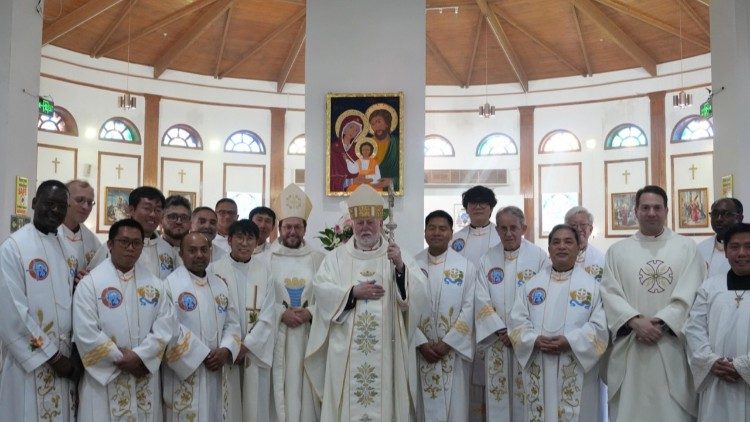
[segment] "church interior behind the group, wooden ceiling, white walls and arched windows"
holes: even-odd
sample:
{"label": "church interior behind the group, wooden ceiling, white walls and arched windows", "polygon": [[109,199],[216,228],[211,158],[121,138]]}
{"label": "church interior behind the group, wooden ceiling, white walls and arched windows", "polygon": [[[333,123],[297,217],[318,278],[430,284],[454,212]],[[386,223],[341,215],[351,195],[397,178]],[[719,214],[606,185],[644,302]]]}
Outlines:
{"label": "church interior behind the group, wooden ceiling, white walls and arched windows", "polygon": [[[3,202],[15,176],[85,179],[97,192],[86,225],[102,238],[136,186],[194,205],[228,196],[246,216],[296,183],[313,198],[312,240],[345,199],[324,188],[328,93],[404,93],[395,216],[414,253],[430,211],[468,224],[460,195],[476,184],[522,208],[540,245],[569,208],[588,208],[601,249],[637,228],[629,210],[646,184],[665,188],[667,225],[696,241],[712,234],[711,202],[750,199],[736,157],[750,76],[742,0],[9,4],[2,106],[39,96],[54,113],[4,113],[0,135],[36,143],[21,158],[3,147]],[[14,59],[19,45],[29,51]],[[36,59],[33,86],[33,71],[19,74]]]}

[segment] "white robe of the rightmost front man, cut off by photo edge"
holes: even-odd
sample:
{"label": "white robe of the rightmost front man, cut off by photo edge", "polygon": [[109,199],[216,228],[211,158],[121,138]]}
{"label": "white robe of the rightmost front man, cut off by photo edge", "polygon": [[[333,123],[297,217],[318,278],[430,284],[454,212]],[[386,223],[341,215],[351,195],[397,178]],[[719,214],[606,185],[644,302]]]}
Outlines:
{"label": "white robe of the rightmost front man, cut off by photo edge", "polygon": [[[707,279],[685,324],[700,421],[750,419],[750,295],[746,297],[746,292],[728,290],[726,274]],[[711,366],[719,358],[732,359],[742,378],[727,382],[713,375]]]}

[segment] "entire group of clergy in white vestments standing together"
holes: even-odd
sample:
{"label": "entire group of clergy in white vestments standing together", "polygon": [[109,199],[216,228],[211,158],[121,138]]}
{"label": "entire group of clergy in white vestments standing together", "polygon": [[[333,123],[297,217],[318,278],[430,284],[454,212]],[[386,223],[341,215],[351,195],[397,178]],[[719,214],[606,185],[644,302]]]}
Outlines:
{"label": "entire group of clergy in white vestments standing together", "polygon": [[431,212],[410,257],[368,185],[328,254],[304,239],[312,204],[295,185],[248,219],[228,198],[193,209],[138,187],[104,245],[83,225],[94,198],[85,181],[42,182],[33,224],[0,246],[3,419],[750,418],[736,199],[711,206],[716,236],[696,246],[645,186],[639,230],[605,254],[585,208],[545,251],[521,209],[490,221],[495,194],[475,186],[471,224]]}

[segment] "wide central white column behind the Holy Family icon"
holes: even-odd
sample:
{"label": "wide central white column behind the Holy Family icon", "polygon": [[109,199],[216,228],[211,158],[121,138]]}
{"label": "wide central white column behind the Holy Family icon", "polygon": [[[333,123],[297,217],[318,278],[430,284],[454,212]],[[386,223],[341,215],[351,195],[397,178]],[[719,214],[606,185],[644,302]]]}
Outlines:
{"label": "wide central white column behind the Holy Family icon", "polygon": [[317,233],[340,217],[342,197],[325,196],[325,103],[328,92],[404,93],[404,197],[396,199],[396,241],[423,245],[424,0],[308,0],[305,41],[305,191]]}

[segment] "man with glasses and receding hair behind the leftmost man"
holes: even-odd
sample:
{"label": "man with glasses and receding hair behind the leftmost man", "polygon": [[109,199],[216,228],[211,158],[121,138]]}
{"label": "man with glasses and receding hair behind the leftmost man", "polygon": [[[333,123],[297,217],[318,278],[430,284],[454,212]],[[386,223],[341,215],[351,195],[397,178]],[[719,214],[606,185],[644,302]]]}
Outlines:
{"label": "man with glasses and receding hair behind the leftmost man", "polygon": [[73,249],[78,259],[78,271],[83,271],[91,262],[102,242],[83,223],[94,209],[94,188],[85,180],[71,180],[68,188],[68,212],[65,221],[57,229],[57,236]]}

